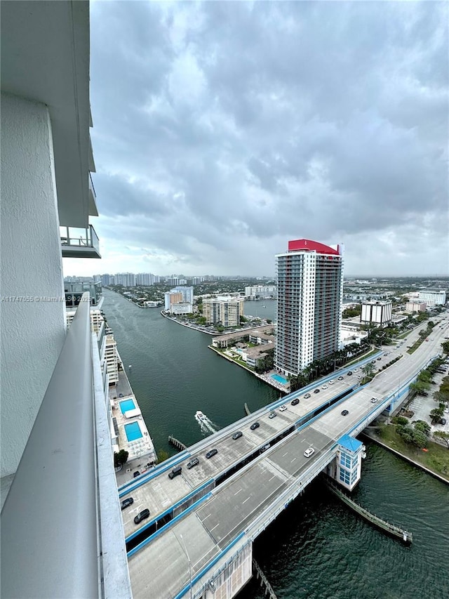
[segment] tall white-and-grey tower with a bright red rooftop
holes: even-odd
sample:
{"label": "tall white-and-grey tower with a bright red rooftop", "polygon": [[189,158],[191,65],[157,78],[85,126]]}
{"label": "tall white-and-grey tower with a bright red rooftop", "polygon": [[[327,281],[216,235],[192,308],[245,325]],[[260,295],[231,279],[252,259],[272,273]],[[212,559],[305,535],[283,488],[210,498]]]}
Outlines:
{"label": "tall white-and-grey tower with a bright red rooftop", "polygon": [[278,277],[275,366],[297,375],[340,346],[343,246],[311,239],[288,242],[276,256]]}

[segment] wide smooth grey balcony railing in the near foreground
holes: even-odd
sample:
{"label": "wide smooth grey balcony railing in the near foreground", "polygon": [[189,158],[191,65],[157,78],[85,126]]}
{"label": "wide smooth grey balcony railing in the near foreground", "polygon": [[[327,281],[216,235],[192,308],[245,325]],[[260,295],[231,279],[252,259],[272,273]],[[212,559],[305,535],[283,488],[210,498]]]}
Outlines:
{"label": "wide smooth grey balcony railing in the near foreground", "polygon": [[132,597],[89,308],[86,293],[4,503],[2,597]]}

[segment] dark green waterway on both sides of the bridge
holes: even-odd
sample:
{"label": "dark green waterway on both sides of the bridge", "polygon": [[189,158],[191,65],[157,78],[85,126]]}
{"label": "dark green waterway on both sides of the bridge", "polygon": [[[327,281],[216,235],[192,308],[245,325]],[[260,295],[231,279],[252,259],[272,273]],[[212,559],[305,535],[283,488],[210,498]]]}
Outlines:
{"label": "dark green waterway on both sides of the bridge", "polygon": [[[103,310],[114,330],[130,383],[156,451],[173,452],[173,435],[187,445],[201,439],[201,409],[222,428],[277,393],[207,348],[210,336],[181,327],[104,290]],[[246,303],[246,311],[275,317],[274,301]],[[247,308],[248,306],[248,308]],[[254,555],[278,599],[449,598],[449,487],[366,442],[367,457],[353,499],[413,532],[413,545],[354,515],[318,482],[310,485],[255,542]],[[252,581],[239,599],[262,599]],[[154,598],[158,599],[158,598]]]}

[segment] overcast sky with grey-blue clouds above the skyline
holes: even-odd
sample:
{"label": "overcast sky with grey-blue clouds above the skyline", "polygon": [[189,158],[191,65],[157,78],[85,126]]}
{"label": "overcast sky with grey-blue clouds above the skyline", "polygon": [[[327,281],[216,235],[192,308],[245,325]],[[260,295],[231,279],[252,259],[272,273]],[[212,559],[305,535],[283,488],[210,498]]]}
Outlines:
{"label": "overcast sky with grey-blue clouds above the skyline", "polygon": [[448,4],[91,2],[92,222],[65,274],[446,274]]}

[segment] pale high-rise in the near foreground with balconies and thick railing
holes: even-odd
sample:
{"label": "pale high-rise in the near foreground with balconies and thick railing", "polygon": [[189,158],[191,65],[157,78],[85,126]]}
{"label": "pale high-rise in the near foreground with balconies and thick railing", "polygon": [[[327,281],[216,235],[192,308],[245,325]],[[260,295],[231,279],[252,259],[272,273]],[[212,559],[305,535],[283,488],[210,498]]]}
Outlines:
{"label": "pale high-rise in the near foreground with balconies and thick railing", "polygon": [[103,340],[62,276],[100,257],[89,38],[86,1],[1,5],[2,597],[132,596]]}

